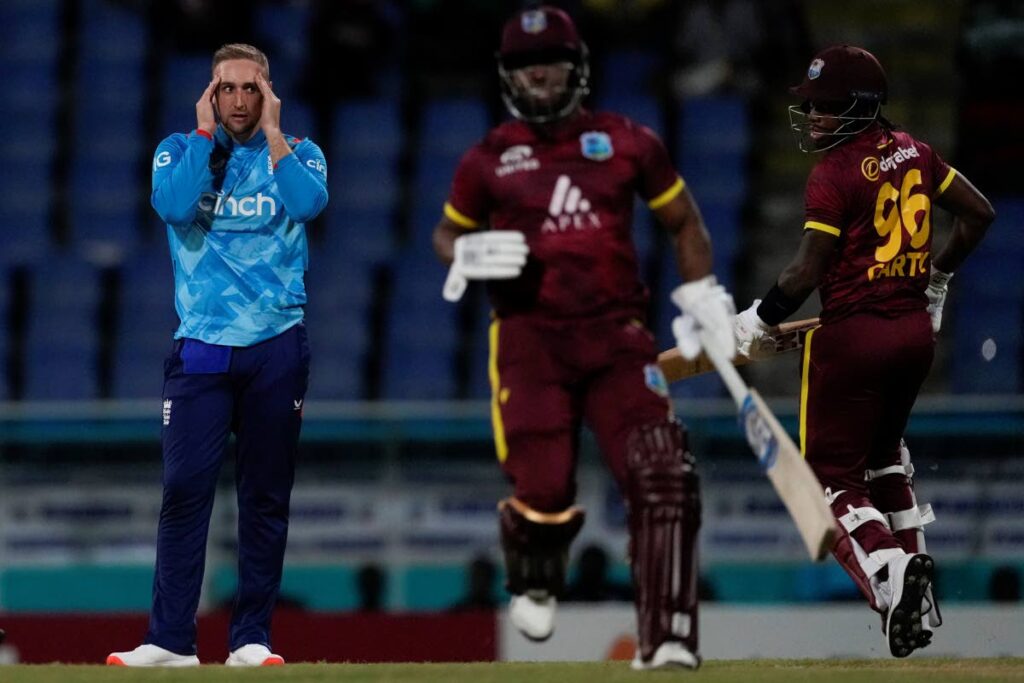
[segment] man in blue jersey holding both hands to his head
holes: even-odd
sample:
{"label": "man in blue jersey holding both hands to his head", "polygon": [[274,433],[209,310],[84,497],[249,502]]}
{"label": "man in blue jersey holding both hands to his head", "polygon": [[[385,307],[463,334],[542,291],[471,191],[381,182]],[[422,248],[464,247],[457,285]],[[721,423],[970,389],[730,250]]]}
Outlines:
{"label": "man in blue jersey holding both hands to his head", "polygon": [[302,402],[304,223],[327,205],[319,147],[281,131],[266,56],[213,56],[196,130],[157,147],[153,207],[167,223],[181,325],[164,364],[164,496],[144,644],[106,664],[199,665],[196,611],[217,478],[237,436],[239,588],[229,666],[283,665],[270,649]]}

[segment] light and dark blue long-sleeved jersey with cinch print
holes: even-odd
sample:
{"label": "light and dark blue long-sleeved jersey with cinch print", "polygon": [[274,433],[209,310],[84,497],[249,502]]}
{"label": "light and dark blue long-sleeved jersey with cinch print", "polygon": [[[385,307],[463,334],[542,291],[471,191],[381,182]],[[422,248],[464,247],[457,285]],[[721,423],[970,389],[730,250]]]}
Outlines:
{"label": "light and dark blue long-sleeved jersey with cinch print", "polygon": [[270,162],[262,131],[246,142],[175,133],[153,160],[153,208],[174,264],[174,338],[251,346],[302,321],[305,222],[327,206],[327,162],[310,140]]}

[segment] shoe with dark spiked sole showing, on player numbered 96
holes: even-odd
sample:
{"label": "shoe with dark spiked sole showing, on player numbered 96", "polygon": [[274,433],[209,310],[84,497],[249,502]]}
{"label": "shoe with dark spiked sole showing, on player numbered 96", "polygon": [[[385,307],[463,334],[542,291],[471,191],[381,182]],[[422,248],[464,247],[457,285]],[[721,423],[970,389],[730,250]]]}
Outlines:
{"label": "shoe with dark spiked sole showing, on player numbered 96", "polygon": [[889,560],[886,582],[889,610],[884,633],[894,657],[905,657],[932,642],[932,631],[922,624],[922,615],[934,574],[935,561],[925,553],[908,553]]}

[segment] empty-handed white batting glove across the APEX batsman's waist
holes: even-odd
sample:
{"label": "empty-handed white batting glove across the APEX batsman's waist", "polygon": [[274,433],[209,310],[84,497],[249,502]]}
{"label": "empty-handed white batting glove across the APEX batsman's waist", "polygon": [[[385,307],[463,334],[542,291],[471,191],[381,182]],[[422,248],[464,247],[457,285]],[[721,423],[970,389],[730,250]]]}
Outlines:
{"label": "empty-handed white batting glove across the APEX batsman's waist", "polygon": [[528,254],[526,238],[518,230],[484,230],[457,238],[455,260],[444,281],[444,299],[461,299],[470,280],[518,278]]}

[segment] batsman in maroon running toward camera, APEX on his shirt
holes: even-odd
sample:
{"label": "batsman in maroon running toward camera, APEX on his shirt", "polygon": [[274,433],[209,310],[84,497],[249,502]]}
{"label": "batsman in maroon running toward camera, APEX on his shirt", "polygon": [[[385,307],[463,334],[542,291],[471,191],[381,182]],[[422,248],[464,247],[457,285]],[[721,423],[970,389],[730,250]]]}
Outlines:
{"label": "batsman in maroon running toward camera, APEX on his shirt", "polygon": [[708,231],[662,141],[625,117],[581,108],[587,53],[567,14],[515,15],[499,74],[516,121],[463,157],[434,246],[452,264],[445,298],[485,280],[494,307],[495,443],[514,485],[499,506],[510,616],[534,640],[554,628],[584,521],[574,471],[586,422],[629,510],[640,631],[633,666],[696,668],[699,488],[644,325],[637,195],[674,237],[687,281],[673,294],[684,353],[699,351],[699,331],[732,356],[732,300],[710,274]]}

